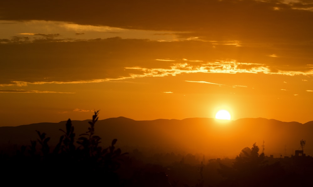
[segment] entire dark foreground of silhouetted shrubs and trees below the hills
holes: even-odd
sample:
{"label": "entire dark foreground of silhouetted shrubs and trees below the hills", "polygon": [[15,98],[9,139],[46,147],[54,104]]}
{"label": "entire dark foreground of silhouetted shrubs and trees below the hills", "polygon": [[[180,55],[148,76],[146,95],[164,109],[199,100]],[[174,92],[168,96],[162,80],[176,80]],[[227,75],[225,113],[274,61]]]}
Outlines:
{"label": "entire dark foreground of silhouetted shrubs and trees below the hills", "polygon": [[98,111],[88,131],[76,136],[69,119],[59,143],[50,146],[47,134],[21,146],[15,154],[1,149],[1,181],[10,184],[99,185],[147,187],[265,187],[312,186],[313,159],[310,156],[271,158],[259,154],[259,147],[242,149],[235,159],[209,159],[204,155],[154,154],[138,149],[122,153],[117,139],[103,148],[95,134]]}

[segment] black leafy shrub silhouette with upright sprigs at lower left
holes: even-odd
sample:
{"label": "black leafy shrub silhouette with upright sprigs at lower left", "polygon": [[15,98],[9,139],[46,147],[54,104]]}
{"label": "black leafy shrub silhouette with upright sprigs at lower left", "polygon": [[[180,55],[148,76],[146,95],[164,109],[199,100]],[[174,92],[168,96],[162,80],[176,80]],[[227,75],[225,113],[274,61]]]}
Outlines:
{"label": "black leafy shrub silhouette with upright sprigs at lower left", "polygon": [[88,131],[80,134],[77,140],[74,126],[68,119],[66,129],[59,129],[64,135],[59,138],[59,143],[53,150],[48,145],[50,137],[36,130],[39,138],[31,141],[31,145],[22,146],[14,156],[0,155],[1,169],[5,171],[3,179],[14,176],[27,180],[36,178],[37,182],[51,182],[61,177],[69,184],[105,181],[110,186],[121,185],[117,170],[127,153],[122,154],[121,149],[115,149],[117,139],[113,139],[107,148],[99,145],[101,138],[95,135],[98,112],[95,111],[92,116]]}

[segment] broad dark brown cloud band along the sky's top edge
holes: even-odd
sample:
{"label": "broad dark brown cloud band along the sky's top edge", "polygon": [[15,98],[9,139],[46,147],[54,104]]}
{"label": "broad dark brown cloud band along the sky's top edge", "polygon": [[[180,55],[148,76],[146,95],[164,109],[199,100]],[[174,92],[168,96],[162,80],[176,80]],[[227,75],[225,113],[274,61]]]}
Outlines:
{"label": "broad dark brown cloud band along the sky's top edge", "polygon": [[[122,0],[86,4],[84,1],[56,0],[51,4],[40,0],[31,3],[18,0],[4,1],[1,6],[3,20],[55,20],[92,27],[183,31],[190,33],[189,37],[184,37],[207,40],[214,40],[216,36],[223,36],[226,41],[312,39],[312,4],[305,1]],[[81,14],[81,10],[88,18]]]}

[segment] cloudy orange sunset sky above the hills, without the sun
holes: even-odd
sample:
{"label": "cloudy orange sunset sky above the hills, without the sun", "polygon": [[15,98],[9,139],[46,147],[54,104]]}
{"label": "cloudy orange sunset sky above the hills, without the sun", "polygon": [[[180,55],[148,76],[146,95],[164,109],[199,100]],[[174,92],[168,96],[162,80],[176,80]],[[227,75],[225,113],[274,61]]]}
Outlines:
{"label": "cloudy orange sunset sky above the hills, without the sun", "polygon": [[0,1],[0,126],[313,120],[311,0]]}

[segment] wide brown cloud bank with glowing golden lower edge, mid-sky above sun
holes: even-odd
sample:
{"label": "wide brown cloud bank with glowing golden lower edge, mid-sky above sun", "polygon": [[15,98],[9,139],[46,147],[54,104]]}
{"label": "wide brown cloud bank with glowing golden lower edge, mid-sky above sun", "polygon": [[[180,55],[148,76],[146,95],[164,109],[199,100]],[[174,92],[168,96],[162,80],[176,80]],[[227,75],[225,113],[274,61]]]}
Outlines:
{"label": "wide brown cloud bank with glowing golden lower edge, mid-sky above sun", "polygon": [[[279,64],[261,63],[259,61],[262,60],[257,61],[255,58],[239,61],[230,58],[238,56],[236,53],[223,53],[224,50],[232,51],[234,46],[222,46],[221,53],[217,53],[207,42],[164,43],[107,38],[76,42],[46,39],[54,42],[27,43],[27,39],[21,38],[23,37],[19,37],[16,43],[0,45],[0,51],[5,54],[0,56],[0,62],[3,62],[0,63],[2,87],[100,83],[197,73],[313,75],[313,66],[307,65],[307,62],[290,63],[285,68]],[[24,45],[18,43],[21,40],[25,42]],[[218,59],[221,54],[226,55],[227,60]]]}

